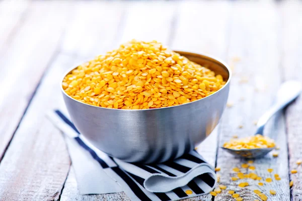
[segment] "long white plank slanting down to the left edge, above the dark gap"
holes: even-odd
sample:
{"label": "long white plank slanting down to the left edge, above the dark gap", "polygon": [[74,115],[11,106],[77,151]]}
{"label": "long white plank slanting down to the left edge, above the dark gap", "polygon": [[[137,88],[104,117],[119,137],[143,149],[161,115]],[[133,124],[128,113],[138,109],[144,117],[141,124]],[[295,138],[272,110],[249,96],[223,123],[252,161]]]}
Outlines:
{"label": "long white plank slanting down to the left edge, above the dark gap", "polygon": [[[48,62],[55,54],[69,15],[68,4],[60,5],[58,8],[57,2],[32,3],[24,23],[0,58],[0,84],[3,86],[0,97],[0,160]],[[56,15],[44,15],[47,12],[55,12]]]}

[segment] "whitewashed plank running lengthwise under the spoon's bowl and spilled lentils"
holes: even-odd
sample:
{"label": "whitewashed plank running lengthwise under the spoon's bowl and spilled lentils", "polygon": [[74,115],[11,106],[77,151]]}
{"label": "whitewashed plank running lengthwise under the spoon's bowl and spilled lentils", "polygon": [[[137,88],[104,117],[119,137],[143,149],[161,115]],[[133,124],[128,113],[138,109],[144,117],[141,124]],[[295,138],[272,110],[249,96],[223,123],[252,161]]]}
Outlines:
{"label": "whitewashed plank running lengthwise under the spoon's bowl and spilled lentils", "polygon": [[[276,5],[272,2],[236,2],[232,13],[229,63],[234,62],[234,57],[241,57],[241,61],[235,65],[230,88],[229,102],[234,103],[234,107],[226,109],[220,122],[220,146],[234,134],[239,137],[254,134],[256,127],[253,122],[271,105],[281,83],[280,21]],[[242,100],[242,97],[245,100]],[[242,129],[239,128],[240,125],[243,126]],[[273,158],[269,154],[256,159],[253,164],[256,167],[254,171],[241,168],[243,173],[255,172],[261,176],[264,185],[259,186],[259,181],[252,179],[232,181],[231,176],[237,176],[232,169],[241,167],[247,160],[235,158],[218,149],[220,183],[228,186],[228,190],[235,190],[244,200],[260,199],[253,192],[255,189],[265,193],[268,200],[289,200],[287,146],[282,114],[270,121],[266,126],[265,135],[275,139],[280,147],[279,157]],[[268,168],[273,168],[273,172],[269,173]],[[280,175],[281,180],[274,179],[275,173]],[[272,183],[264,181],[268,177],[273,178]],[[249,186],[241,188],[238,186],[241,182],[248,182]],[[277,194],[271,195],[270,189],[276,190]],[[227,190],[223,190],[214,200],[233,199]]]}

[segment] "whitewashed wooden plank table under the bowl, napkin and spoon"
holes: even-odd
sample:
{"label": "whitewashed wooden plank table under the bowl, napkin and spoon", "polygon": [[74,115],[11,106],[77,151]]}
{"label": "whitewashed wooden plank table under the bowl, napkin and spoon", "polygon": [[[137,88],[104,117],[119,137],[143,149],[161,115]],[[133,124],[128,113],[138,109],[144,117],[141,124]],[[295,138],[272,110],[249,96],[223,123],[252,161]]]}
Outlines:
{"label": "whitewashed wooden plank table under the bowl, napkin and spoon", "polygon": [[[220,57],[234,71],[220,124],[198,151],[220,167],[220,183],[244,200],[302,200],[302,97],[266,129],[279,156],[256,160],[255,172],[281,180],[240,188],[242,159],[219,149],[234,134],[251,135],[281,82],[302,81],[302,2],[0,1],[0,200],[129,200],[125,193],[80,195],[62,134],[45,112],[62,105],[59,81],[75,64],[130,39]],[[239,128],[240,125],[243,128]],[[289,174],[296,168],[297,174]],[[273,177],[273,176],[272,176]],[[289,181],[293,181],[289,188]],[[274,189],[276,195],[268,190]],[[190,200],[235,200],[227,191]]]}

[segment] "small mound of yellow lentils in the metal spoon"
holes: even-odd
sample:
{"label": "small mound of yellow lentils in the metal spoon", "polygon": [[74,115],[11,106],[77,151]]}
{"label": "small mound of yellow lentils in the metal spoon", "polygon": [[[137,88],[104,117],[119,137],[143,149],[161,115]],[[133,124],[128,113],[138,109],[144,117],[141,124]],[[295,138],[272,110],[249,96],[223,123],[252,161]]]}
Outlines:
{"label": "small mound of yellow lentils in the metal spoon", "polygon": [[273,148],[275,142],[268,137],[257,134],[240,139],[231,139],[229,142],[225,142],[223,147],[229,149]]}

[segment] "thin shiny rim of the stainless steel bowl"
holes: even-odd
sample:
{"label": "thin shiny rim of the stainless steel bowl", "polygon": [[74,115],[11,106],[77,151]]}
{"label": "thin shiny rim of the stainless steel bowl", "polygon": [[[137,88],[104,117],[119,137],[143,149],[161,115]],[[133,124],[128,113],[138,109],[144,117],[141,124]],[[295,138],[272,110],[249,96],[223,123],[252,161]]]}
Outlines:
{"label": "thin shiny rim of the stainless steel bowl", "polygon": [[228,71],[229,73],[229,78],[228,78],[228,81],[225,82],[225,84],[222,86],[222,88],[220,88],[219,90],[215,91],[215,93],[212,93],[204,98],[201,98],[201,99],[198,99],[198,100],[194,100],[193,102],[190,102],[190,103],[186,103],[186,104],[181,104],[181,105],[177,105],[177,106],[170,106],[170,107],[165,107],[165,108],[152,108],[152,109],[144,109],[144,110],[141,110],[141,109],[134,109],[134,110],[129,110],[129,109],[115,109],[115,108],[103,108],[103,107],[99,107],[99,106],[94,106],[94,105],[89,105],[89,104],[86,104],[86,103],[83,103],[83,102],[80,102],[79,100],[77,99],[74,99],[72,98],[71,96],[69,96],[63,89],[63,86],[62,86],[62,82],[63,82],[63,79],[64,77],[69,74],[73,69],[77,68],[79,65],[75,66],[75,67],[71,67],[71,68],[68,68],[68,70],[66,70],[63,74],[63,77],[60,79],[60,88],[61,88],[61,91],[63,92],[63,94],[65,96],[67,96],[68,98],[74,100],[75,102],[78,102],[80,104],[84,104],[86,106],[90,106],[90,107],[95,107],[99,110],[116,110],[116,111],[127,111],[127,112],[130,112],[130,111],[150,111],[150,110],[167,110],[167,109],[171,109],[171,108],[175,108],[175,107],[181,107],[181,106],[185,106],[185,105],[188,105],[188,104],[193,104],[193,103],[196,103],[196,102],[200,102],[200,101],[205,101],[204,99],[208,99],[210,96],[218,93],[219,91],[221,91],[223,88],[225,88],[227,85],[230,84],[230,81],[231,81],[231,78],[232,78],[232,71],[230,69],[230,66],[228,64],[226,64],[224,61],[218,59],[217,57],[214,57],[214,56],[211,56],[209,54],[203,54],[203,53],[196,53],[196,52],[187,52],[187,51],[182,51],[182,50],[173,50],[174,52],[176,53],[179,53],[181,55],[181,53],[190,53],[190,54],[193,54],[194,56],[203,56],[203,57],[208,57],[210,58],[211,60],[213,60],[212,62],[215,62],[217,64],[222,64],[226,70]]}

